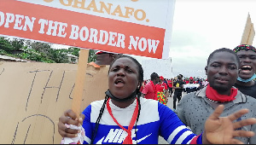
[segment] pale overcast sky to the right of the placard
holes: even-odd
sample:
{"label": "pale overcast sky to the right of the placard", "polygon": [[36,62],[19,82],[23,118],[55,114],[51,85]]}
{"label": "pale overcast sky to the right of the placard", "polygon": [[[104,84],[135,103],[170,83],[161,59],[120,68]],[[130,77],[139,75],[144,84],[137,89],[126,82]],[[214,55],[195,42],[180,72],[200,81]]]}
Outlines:
{"label": "pale overcast sky to the right of the placard", "polygon": [[241,43],[247,14],[256,24],[255,0],[176,0],[169,54],[173,75],[206,77],[204,67],[213,50]]}

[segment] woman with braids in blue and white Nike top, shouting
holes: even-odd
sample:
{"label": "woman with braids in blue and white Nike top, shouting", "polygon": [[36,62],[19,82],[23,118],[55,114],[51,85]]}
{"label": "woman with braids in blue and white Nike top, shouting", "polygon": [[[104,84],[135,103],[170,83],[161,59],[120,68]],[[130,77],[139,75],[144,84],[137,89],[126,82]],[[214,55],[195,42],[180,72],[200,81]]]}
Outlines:
{"label": "woman with braids in blue and white Nike top, shouting", "polygon": [[[256,119],[233,121],[247,113],[242,109],[219,117],[223,106],[207,119],[205,131],[193,134],[169,107],[152,99],[137,97],[143,83],[143,67],[130,56],[122,56],[109,67],[106,98],[92,102],[81,118],[67,110],[59,119],[62,143],[84,144],[157,144],[159,136],[169,143],[241,143],[235,136],[254,136],[252,131],[237,130],[256,123]],[[82,127],[81,127],[82,124]],[[75,125],[75,126],[73,126]],[[78,127],[79,130],[71,128]]]}

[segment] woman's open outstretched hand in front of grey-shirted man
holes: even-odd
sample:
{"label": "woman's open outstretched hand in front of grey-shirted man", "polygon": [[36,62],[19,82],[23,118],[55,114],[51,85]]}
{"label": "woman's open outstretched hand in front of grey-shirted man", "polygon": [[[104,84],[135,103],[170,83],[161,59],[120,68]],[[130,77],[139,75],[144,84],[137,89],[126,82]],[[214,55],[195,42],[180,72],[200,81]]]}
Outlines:
{"label": "woman's open outstretched hand in front of grey-shirted man", "polygon": [[251,137],[253,131],[237,130],[242,126],[256,124],[255,118],[243,119],[233,122],[242,115],[248,113],[248,109],[241,109],[227,117],[219,117],[223,113],[224,105],[219,105],[212,115],[207,119],[205,131],[202,136],[203,144],[241,144],[243,142],[235,139],[236,136]]}

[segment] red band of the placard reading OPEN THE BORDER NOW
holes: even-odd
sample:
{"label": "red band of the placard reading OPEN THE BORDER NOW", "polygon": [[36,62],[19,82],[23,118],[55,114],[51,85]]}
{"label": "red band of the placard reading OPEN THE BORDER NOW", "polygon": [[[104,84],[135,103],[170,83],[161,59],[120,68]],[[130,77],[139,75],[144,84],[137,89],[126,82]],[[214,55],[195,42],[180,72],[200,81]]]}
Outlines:
{"label": "red band of the placard reading OPEN THE BORDER NOW", "polygon": [[[48,1],[48,4],[51,1]],[[44,0],[44,3],[46,2]],[[57,5],[66,8],[67,4],[60,0]],[[109,3],[104,4],[106,6]],[[70,7],[73,8],[74,4],[70,3]],[[0,2],[0,34],[122,54],[154,58],[163,56],[165,28],[104,18],[64,8],[53,8],[37,2],[2,0]],[[117,8],[113,13],[120,14]],[[86,9],[85,6],[84,9]],[[138,13],[143,14],[143,10],[137,10],[137,15],[135,12],[134,15],[139,20]],[[125,16],[129,17],[129,13],[124,13],[123,17]]]}

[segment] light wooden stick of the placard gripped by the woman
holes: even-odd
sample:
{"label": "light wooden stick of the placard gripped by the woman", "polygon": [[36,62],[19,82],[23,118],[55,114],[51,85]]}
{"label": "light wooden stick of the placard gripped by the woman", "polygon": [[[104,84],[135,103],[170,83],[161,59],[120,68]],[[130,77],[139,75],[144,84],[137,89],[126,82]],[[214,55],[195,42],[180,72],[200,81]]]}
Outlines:
{"label": "light wooden stick of the placard gripped by the woman", "polygon": [[77,76],[75,81],[74,92],[73,92],[73,102],[72,102],[72,110],[74,113],[77,114],[78,118],[81,113],[80,107],[81,107],[82,96],[84,92],[84,83],[85,83],[88,55],[89,55],[89,49],[80,49],[79,65],[78,65],[78,71],[77,71]]}

